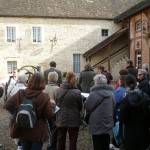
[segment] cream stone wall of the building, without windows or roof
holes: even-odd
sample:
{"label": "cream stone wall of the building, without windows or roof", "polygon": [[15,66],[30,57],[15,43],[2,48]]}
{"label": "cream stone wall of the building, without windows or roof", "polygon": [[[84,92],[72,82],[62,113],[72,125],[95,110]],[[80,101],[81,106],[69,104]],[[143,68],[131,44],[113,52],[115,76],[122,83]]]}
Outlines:
{"label": "cream stone wall of the building, without windows or roof", "polygon": [[[6,27],[15,26],[17,40],[6,41]],[[32,42],[32,27],[42,27],[42,43]],[[109,35],[120,29],[113,21],[49,18],[0,18],[0,78],[7,75],[7,61],[24,65],[49,67],[56,61],[62,72],[73,70],[73,54],[83,54],[104,40],[101,29],[109,29]],[[55,37],[57,42],[52,43]],[[82,58],[81,70],[84,59]]]}

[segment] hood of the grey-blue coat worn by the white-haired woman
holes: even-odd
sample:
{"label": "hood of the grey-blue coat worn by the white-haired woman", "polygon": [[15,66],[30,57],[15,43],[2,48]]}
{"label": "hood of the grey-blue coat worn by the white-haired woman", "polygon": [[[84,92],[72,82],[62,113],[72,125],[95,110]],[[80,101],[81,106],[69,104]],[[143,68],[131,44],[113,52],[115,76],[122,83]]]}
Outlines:
{"label": "hood of the grey-blue coat worn by the white-haired woman", "polygon": [[112,92],[114,92],[114,87],[109,84],[100,84],[91,87],[90,91],[95,91],[98,94],[100,94],[103,98],[108,98],[112,96]]}

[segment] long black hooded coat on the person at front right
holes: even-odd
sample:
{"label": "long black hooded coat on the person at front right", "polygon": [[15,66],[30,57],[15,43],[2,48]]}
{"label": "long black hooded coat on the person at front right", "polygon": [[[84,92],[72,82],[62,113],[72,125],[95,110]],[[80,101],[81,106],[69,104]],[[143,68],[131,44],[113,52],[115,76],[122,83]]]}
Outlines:
{"label": "long black hooded coat on the person at front right", "polygon": [[119,121],[124,124],[125,150],[145,150],[149,142],[147,109],[144,107],[147,103],[142,97],[139,89],[129,91],[120,105]]}

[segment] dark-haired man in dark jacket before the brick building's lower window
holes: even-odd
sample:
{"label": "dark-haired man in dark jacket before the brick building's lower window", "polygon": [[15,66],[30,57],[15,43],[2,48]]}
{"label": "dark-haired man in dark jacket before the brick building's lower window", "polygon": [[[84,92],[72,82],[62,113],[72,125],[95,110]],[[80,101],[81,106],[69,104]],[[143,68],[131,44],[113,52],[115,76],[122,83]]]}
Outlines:
{"label": "dark-haired man in dark jacket before the brick building's lower window", "polygon": [[137,78],[138,70],[133,66],[133,61],[128,59],[125,63],[125,68],[128,70],[128,74],[132,74]]}

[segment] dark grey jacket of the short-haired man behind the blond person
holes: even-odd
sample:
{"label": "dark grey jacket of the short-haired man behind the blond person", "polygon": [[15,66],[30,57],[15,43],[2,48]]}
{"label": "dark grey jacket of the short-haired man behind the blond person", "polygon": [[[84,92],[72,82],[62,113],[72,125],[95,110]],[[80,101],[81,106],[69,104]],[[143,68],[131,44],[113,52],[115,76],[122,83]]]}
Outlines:
{"label": "dark grey jacket of the short-haired man behind the blond person", "polygon": [[50,72],[54,72],[54,71],[58,74],[58,81],[57,81],[58,85],[60,85],[62,83],[62,74],[61,74],[61,71],[58,70],[58,69],[56,69],[56,68],[54,68],[54,67],[50,67],[49,69],[47,69],[47,70],[44,71],[44,77],[45,77],[45,83],[46,84],[48,84],[48,74]]}

